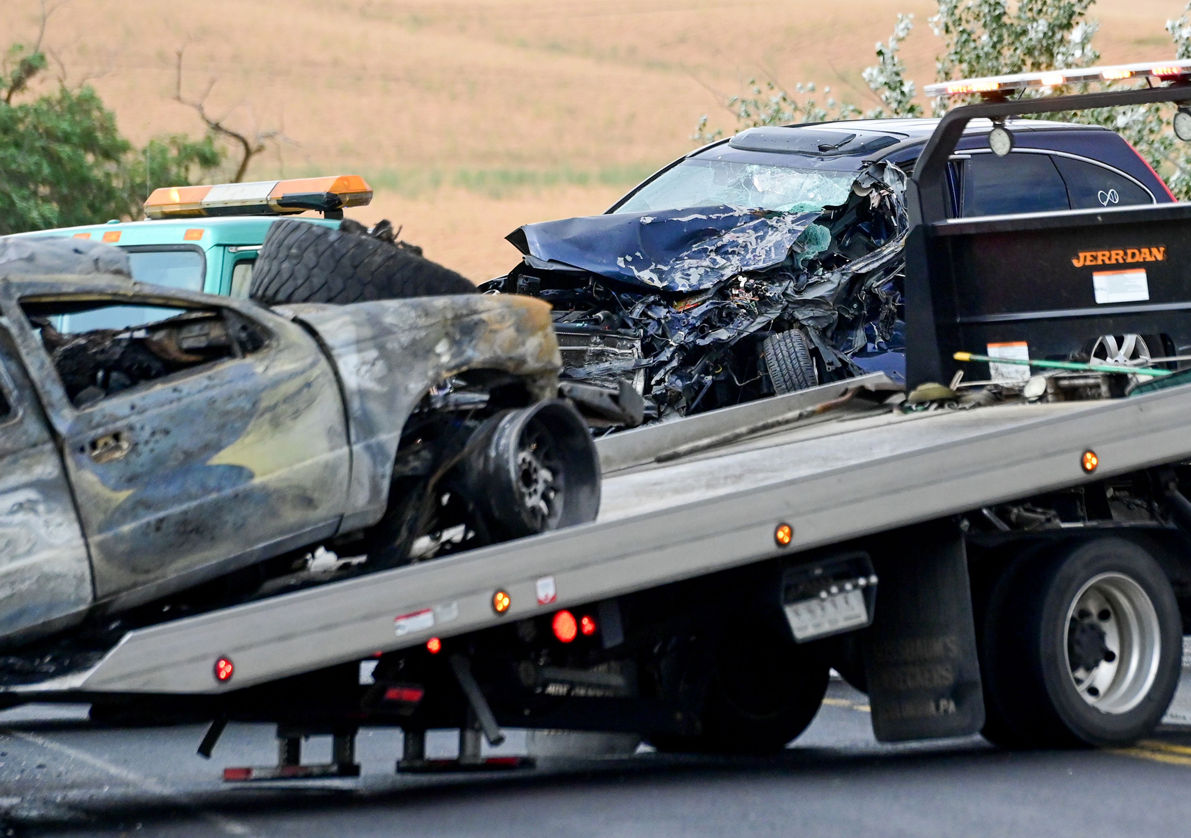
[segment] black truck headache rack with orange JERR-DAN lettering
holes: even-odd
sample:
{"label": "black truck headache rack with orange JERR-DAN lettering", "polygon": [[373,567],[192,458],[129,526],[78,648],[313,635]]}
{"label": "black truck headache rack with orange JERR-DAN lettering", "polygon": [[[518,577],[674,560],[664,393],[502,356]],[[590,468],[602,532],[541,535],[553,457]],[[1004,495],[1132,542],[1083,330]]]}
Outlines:
{"label": "black truck headache rack with orange JERR-DAN lettering", "polygon": [[946,192],[972,119],[1189,101],[1191,86],[1178,83],[990,99],[940,120],[909,186],[909,387],[949,381],[958,351],[1008,355],[1005,344],[1066,361],[1099,336],[1131,333],[1160,338],[1155,356],[1191,354],[1191,204],[948,219]]}

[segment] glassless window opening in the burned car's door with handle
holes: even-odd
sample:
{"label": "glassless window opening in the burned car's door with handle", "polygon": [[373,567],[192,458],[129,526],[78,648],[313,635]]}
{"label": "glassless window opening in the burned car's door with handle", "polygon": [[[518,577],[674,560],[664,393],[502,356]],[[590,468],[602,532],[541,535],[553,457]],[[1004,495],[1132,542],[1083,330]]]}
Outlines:
{"label": "glassless window opening in the burned car's door with handle", "polygon": [[137,306],[145,317],[137,325],[63,332],[62,315],[79,321],[102,320],[106,300],[30,301],[21,304],[30,324],[57,370],[71,404],[82,409],[110,395],[173,373],[244,357],[264,345],[263,327],[220,308]]}

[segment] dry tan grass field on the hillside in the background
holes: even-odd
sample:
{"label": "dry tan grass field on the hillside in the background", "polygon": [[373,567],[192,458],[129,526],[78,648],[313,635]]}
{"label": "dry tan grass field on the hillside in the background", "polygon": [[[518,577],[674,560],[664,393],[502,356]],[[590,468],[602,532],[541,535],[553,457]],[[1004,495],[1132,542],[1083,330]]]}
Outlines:
{"label": "dry tan grass field on the hillside in the background", "polygon": [[[54,0],[51,0],[52,2]],[[1170,56],[1181,0],[1100,0],[1106,61]],[[526,221],[604,210],[685,152],[700,114],[749,77],[815,80],[861,106],[860,70],[898,12],[904,55],[933,80],[929,0],[70,0],[46,45],[67,83],[92,83],[142,142],[198,135],[172,101],[286,142],[249,176],[357,171],[376,187],[362,220],[405,225],[428,256],[474,280],[517,258]],[[36,0],[0,0],[7,44],[36,31]]]}

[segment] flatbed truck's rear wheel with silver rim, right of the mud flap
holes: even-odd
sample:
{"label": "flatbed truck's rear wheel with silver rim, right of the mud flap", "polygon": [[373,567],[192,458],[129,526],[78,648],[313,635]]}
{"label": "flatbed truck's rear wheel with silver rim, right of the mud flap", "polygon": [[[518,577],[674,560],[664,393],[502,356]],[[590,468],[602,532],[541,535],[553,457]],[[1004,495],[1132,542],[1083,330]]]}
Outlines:
{"label": "flatbed truck's rear wheel with silver rim, right of the mud flap", "polygon": [[1146,550],[1104,537],[1028,556],[985,611],[983,732],[1004,748],[1128,745],[1161,721],[1181,659],[1178,602]]}

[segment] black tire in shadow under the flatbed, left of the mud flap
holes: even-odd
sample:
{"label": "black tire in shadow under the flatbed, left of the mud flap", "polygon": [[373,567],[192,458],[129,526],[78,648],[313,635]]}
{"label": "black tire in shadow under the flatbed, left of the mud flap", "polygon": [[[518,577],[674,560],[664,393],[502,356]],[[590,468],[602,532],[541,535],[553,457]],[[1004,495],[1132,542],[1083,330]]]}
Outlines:
{"label": "black tire in shadow under the flatbed, left of the mud flap", "polygon": [[742,626],[717,645],[699,734],[650,737],[650,743],[672,752],[778,753],[811,724],[829,673],[818,645]]}

